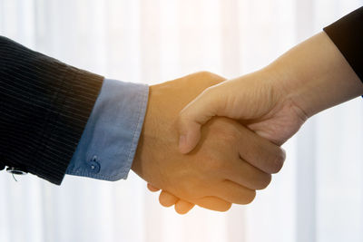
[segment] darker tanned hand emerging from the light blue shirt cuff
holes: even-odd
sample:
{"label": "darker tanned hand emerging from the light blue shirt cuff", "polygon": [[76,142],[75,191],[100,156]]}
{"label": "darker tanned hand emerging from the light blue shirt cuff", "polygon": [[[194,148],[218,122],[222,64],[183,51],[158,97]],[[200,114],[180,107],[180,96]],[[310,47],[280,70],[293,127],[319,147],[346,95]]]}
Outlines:
{"label": "darker tanned hand emerging from the light blue shirt cuff", "polygon": [[187,155],[179,152],[179,112],[202,90],[224,80],[195,73],[150,88],[132,170],[163,189],[162,205],[176,204],[180,213],[193,204],[225,211],[232,203],[250,203],[255,190],[270,184],[270,174],[279,171],[285,159],[280,147],[227,118],[208,121],[196,148]]}

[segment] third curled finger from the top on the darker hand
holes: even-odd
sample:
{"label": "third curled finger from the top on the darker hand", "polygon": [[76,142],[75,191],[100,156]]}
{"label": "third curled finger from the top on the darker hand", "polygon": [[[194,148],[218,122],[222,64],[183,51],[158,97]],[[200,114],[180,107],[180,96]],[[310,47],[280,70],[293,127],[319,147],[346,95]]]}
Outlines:
{"label": "third curled finger from the top on the darker hand", "polygon": [[223,198],[231,203],[249,204],[256,197],[255,190],[244,188],[231,180],[223,181],[214,190],[214,196]]}

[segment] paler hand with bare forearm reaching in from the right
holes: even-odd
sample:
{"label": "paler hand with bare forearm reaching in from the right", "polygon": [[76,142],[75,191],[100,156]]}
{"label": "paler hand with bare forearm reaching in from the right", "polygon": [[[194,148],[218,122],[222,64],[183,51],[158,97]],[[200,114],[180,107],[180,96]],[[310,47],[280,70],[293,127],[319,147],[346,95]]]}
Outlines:
{"label": "paler hand with bare forearm reaching in from the right", "polygon": [[214,116],[238,120],[281,145],[312,115],[362,94],[357,74],[321,32],[260,71],[202,92],[180,113],[179,148],[182,153],[193,150],[201,126]]}

